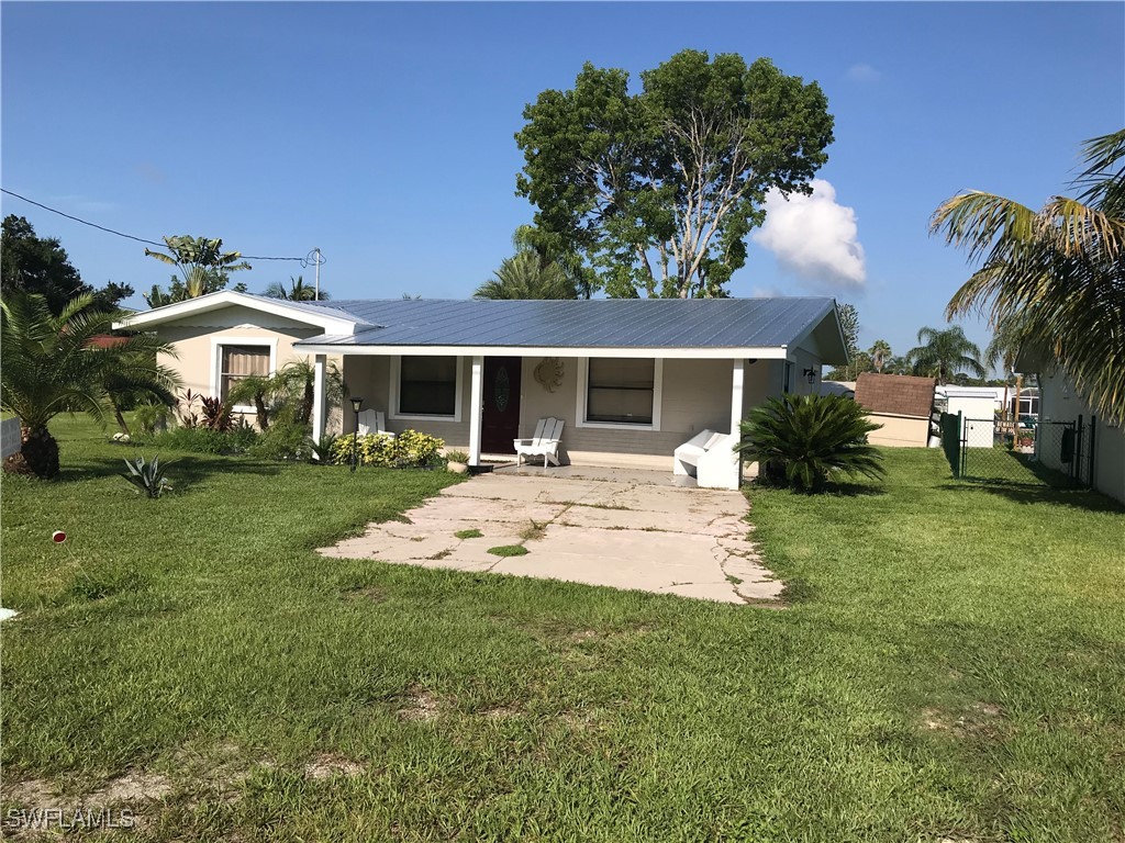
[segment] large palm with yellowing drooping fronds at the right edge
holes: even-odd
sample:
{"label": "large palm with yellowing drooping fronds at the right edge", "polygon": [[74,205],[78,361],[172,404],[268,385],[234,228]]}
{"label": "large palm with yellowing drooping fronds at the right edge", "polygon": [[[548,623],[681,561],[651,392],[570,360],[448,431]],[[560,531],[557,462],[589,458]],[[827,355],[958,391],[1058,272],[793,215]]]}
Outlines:
{"label": "large palm with yellowing drooping fronds at the right edge", "polygon": [[1077,199],[1034,211],[971,191],[935,211],[932,232],[982,266],[947,315],[988,312],[993,326],[1026,318],[1095,409],[1125,419],[1125,129],[1087,140]]}

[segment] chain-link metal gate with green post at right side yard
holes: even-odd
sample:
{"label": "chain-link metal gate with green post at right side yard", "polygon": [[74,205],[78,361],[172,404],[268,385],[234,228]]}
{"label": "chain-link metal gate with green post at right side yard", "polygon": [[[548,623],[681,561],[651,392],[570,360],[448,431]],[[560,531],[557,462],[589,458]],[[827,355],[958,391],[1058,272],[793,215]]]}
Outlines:
{"label": "chain-link metal gate with green post at right side yard", "polygon": [[953,474],[966,480],[1090,487],[1096,436],[1092,416],[1076,422],[942,416],[942,444]]}

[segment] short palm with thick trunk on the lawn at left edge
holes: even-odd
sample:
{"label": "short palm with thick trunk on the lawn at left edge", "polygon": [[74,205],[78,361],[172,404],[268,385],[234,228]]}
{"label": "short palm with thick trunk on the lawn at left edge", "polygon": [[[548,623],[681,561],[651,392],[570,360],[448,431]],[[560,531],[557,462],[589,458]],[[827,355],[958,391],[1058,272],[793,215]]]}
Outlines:
{"label": "short palm with thick trunk on the lawn at left edge", "polygon": [[4,461],[4,471],[55,477],[58,443],[47,423],[76,411],[104,420],[111,390],[171,400],[179,379],[156,363],[156,353],[172,354],[172,346],[152,334],[98,343],[115,315],[91,310],[92,302],[79,296],[58,316],[38,294],[12,293],[0,302],[0,407],[20,418],[20,451]]}

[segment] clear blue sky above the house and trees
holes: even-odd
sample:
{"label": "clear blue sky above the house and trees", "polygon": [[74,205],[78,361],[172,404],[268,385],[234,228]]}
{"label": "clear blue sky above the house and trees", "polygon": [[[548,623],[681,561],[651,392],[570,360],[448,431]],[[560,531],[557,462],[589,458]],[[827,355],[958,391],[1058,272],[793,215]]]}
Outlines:
{"label": "clear blue sky above the house and trees", "polygon": [[[860,309],[864,345],[897,353],[944,324],[968,277],[927,233],[943,199],[1037,207],[1065,191],[1083,139],[1125,126],[1123,3],[6,1],[0,16],[4,188],[148,239],[320,246],[335,298],[471,294],[531,219],[514,194],[523,107],[583,62],[639,81],[688,47],[768,56],[828,97],[830,187],[773,215],[731,292],[834,294]],[[168,280],[141,244],[2,207],[94,285]],[[312,269],[238,278],[260,291],[297,273]]]}

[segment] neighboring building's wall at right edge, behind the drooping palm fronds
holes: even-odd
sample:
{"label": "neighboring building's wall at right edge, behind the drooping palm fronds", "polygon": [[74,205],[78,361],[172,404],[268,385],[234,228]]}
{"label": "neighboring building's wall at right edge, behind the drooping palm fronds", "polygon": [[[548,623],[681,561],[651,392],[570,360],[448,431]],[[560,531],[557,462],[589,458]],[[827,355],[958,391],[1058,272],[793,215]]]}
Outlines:
{"label": "neighboring building's wall at right edge, behind the drooping palm fronds", "polygon": [[[1125,419],[1099,417],[1074,389],[1052,355],[1025,350],[1016,361],[1020,372],[1035,372],[1040,383],[1041,425],[1071,423],[1076,432],[1074,475],[1112,498],[1125,502]],[[1081,433],[1079,434],[1079,430]],[[1036,459],[1051,469],[1069,471],[1061,453],[1047,447],[1043,436],[1035,437]]]}

